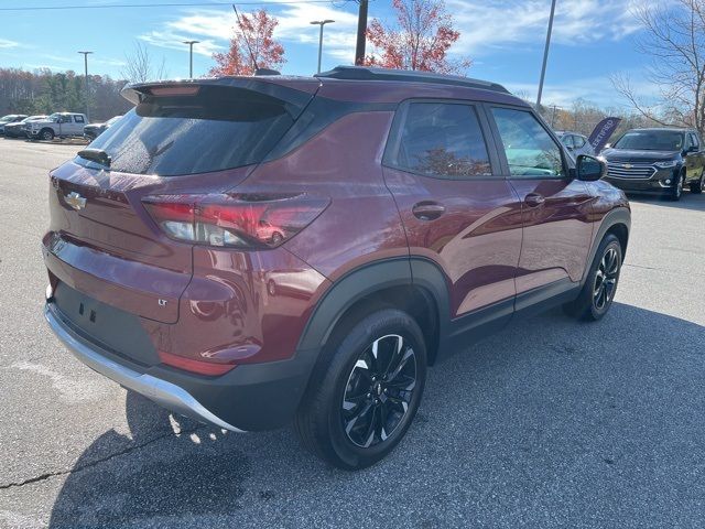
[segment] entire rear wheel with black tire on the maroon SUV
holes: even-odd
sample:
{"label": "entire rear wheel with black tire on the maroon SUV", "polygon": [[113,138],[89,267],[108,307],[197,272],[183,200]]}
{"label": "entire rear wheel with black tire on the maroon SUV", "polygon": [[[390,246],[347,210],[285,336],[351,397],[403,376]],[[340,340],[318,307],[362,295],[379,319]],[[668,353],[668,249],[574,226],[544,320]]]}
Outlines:
{"label": "entire rear wheel with black tire on the maroon SUV", "polygon": [[308,451],[357,471],[387,456],[409,430],[426,379],[426,347],[416,322],[395,309],[341,328],[322,352],[294,427]]}

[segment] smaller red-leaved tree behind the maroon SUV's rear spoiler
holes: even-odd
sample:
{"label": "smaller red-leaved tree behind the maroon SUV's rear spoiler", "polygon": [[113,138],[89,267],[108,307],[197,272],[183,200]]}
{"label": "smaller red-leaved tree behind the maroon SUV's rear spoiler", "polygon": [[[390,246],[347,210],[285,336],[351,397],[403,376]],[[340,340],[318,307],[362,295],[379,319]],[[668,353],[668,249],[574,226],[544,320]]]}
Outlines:
{"label": "smaller red-leaved tree behind the maroon SUV's rear spoiler", "polygon": [[256,66],[250,50],[258,67],[279,69],[286,60],[284,46],[272,36],[278,24],[279,21],[270,17],[265,9],[249,15],[241,14],[228,52],[213,55],[218,64],[210,68],[210,75],[253,75]]}

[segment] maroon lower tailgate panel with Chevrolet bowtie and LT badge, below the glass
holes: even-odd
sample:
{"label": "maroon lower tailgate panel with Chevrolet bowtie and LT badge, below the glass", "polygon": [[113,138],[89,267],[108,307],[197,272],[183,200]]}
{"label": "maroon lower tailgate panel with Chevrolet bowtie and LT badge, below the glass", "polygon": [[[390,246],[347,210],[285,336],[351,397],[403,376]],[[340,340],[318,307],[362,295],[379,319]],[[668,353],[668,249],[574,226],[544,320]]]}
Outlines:
{"label": "maroon lower tailgate panel with Chevrolet bowtie and LT badge, below the glass", "polygon": [[191,281],[192,246],[164,236],[140,203],[164,187],[160,180],[70,162],[54,171],[45,260],[56,278],[79,292],[175,323],[178,299]]}

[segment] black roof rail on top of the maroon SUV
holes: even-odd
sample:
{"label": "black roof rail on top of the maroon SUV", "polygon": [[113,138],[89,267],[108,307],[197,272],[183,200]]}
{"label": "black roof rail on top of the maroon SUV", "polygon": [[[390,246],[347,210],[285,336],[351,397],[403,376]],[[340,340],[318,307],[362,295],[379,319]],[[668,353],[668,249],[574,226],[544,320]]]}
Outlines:
{"label": "black roof rail on top of the maroon SUV", "polygon": [[406,83],[433,83],[436,85],[455,85],[484,90],[501,91],[510,94],[502,85],[487,80],[460,77],[459,75],[443,75],[433,72],[419,72],[408,69],[375,68],[368,66],[336,66],[328,72],[322,72],[314,77],[324,79],[351,79],[351,80],[402,80]]}

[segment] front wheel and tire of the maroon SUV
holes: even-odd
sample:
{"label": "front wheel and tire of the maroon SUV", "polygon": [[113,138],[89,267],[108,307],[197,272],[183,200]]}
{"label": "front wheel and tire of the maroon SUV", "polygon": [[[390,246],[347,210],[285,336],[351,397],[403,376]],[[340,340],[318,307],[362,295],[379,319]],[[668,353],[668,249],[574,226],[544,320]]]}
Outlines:
{"label": "front wheel and tire of the maroon SUV", "polygon": [[619,239],[609,234],[599,245],[587,280],[577,299],[563,305],[570,316],[597,322],[609,312],[619,285],[622,248]]}

